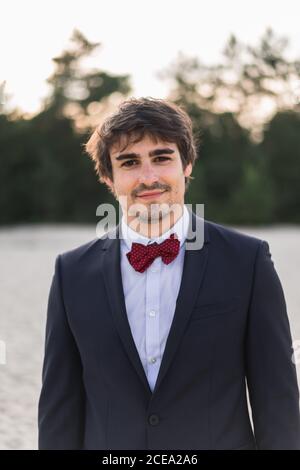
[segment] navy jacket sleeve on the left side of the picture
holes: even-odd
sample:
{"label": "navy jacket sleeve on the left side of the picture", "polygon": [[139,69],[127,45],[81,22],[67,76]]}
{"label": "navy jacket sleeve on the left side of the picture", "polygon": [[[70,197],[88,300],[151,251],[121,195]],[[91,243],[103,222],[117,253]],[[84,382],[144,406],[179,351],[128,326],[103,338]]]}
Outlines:
{"label": "navy jacket sleeve on the left side of the picture", "polygon": [[82,365],[64,307],[60,264],[58,255],[47,308],[38,405],[39,449],[81,449],[83,446]]}

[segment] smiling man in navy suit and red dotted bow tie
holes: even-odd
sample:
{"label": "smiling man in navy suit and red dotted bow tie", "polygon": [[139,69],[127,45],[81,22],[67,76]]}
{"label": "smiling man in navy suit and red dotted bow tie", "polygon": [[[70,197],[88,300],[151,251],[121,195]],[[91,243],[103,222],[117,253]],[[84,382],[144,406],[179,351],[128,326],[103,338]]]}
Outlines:
{"label": "smiling man in navy suit and red dotted bow tie", "polygon": [[[185,206],[196,158],[187,114],[128,100],[86,149],[124,211],[115,229],[56,259],[39,448],[300,449],[268,243]],[[197,230],[202,243],[187,249]]]}

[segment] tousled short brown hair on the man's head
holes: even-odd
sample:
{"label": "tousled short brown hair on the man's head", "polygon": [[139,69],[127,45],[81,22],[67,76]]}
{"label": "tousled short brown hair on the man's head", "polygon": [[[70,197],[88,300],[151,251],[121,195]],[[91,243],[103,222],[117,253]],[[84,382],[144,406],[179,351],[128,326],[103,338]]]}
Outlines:
{"label": "tousled short brown hair on the man's head", "polygon": [[[167,100],[131,98],[121,103],[117,112],[98,126],[84,144],[101,182],[103,176],[113,181],[111,147],[125,138],[124,150],[129,143],[139,142],[145,135],[154,140],[176,143],[183,170],[189,163],[194,164],[197,158],[196,139],[188,114]],[[185,177],[185,189],[190,179],[193,177]]]}

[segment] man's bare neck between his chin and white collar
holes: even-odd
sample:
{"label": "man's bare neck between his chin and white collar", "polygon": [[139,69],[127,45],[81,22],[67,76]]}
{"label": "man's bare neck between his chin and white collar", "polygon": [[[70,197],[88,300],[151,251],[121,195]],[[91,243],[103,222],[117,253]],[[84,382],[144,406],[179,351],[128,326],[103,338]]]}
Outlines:
{"label": "man's bare neck between his chin and white collar", "polygon": [[159,220],[148,223],[134,216],[126,214],[126,224],[135,232],[147,238],[160,237],[163,233],[170,230],[183,215],[183,205],[176,205],[175,210],[163,215]]}

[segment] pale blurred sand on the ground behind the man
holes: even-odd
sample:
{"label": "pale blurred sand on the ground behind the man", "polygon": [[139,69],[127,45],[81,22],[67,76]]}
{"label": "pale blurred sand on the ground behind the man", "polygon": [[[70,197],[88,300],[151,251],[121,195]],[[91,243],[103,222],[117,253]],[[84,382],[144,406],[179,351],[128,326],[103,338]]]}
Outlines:
{"label": "pale blurred sand on the ground behind the man", "polygon": [[[268,241],[293,339],[299,341],[300,227],[234,228]],[[54,261],[57,254],[95,237],[94,226],[0,229],[0,350],[2,357],[6,354],[6,363],[0,364],[0,449],[37,448],[37,402]]]}

